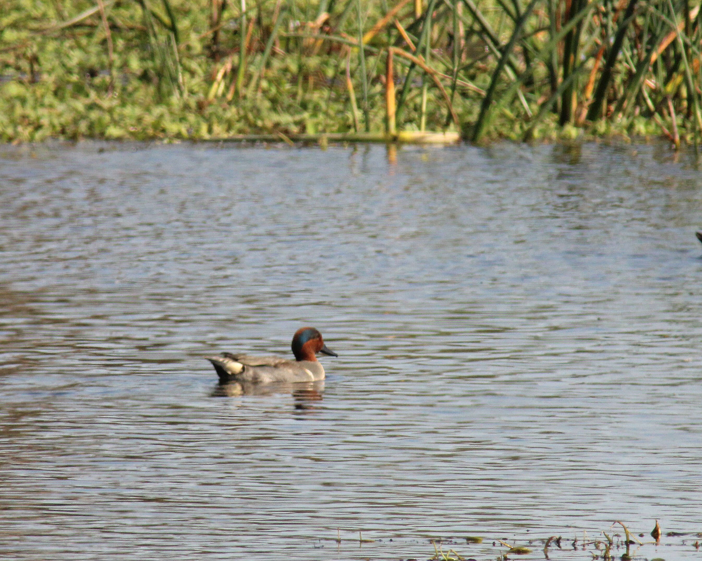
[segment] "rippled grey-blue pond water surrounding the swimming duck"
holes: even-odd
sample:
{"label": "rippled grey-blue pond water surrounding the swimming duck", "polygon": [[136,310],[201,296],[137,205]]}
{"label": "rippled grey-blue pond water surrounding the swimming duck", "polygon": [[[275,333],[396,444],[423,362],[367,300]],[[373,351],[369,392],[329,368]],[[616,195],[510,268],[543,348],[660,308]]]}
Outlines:
{"label": "rippled grey-blue pond water surrounding the swimming duck", "polygon": [[[0,201],[4,559],[702,559],[693,156],[46,144]],[[218,395],[303,325],[323,387]]]}

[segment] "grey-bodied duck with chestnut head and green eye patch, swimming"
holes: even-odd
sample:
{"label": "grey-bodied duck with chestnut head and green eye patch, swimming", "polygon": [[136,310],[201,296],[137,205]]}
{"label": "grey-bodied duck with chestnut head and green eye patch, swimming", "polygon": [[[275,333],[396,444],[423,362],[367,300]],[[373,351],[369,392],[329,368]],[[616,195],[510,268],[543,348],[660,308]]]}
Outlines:
{"label": "grey-bodied duck with chestnut head and green eye patch, swimming", "polygon": [[317,353],[338,356],[324,344],[322,334],[314,327],[300,327],[292,343],[295,360],[277,356],[249,356],[222,353],[206,356],[220,379],[220,384],[272,384],[273,382],[317,381],[324,379],[324,368]]}

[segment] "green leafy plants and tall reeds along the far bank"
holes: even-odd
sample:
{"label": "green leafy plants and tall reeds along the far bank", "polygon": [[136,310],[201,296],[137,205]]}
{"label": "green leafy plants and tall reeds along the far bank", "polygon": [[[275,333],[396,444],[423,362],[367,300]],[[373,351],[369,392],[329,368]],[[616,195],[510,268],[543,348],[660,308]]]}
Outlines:
{"label": "green leafy plants and tall reeds along the far bank", "polygon": [[1,142],[702,134],[690,0],[0,6]]}

